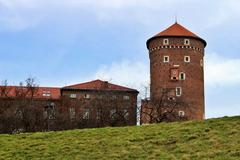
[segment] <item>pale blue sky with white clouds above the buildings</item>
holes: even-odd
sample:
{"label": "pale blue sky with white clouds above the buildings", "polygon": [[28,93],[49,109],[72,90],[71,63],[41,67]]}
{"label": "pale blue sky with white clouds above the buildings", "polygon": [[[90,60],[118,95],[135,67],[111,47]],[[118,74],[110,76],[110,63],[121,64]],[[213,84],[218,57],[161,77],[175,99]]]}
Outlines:
{"label": "pale blue sky with white clouds above the buildings", "polygon": [[175,22],[208,43],[206,117],[240,115],[239,0],[0,0],[0,80],[149,84],[146,41]]}

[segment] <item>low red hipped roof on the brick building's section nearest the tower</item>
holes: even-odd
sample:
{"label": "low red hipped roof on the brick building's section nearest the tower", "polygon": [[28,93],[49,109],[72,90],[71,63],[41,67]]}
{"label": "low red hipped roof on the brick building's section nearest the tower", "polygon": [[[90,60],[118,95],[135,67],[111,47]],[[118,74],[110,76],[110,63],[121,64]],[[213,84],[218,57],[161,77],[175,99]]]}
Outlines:
{"label": "low red hipped roof on the brick building's section nearest the tower", "polygon": [[86,83],[75,84],[63,87],[63,89],[80,89],[80,90],[111,90],[111,91],[132,91],[138,92],[135,89],[119,86],[107,81],[94,80]]}

